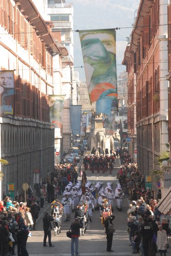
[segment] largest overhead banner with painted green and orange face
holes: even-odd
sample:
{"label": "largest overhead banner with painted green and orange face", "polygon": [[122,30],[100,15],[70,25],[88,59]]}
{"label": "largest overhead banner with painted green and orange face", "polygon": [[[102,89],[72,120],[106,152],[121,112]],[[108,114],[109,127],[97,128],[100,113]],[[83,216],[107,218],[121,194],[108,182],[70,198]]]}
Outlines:
{"label": "largest overhead banner with painted green and orange face", "polygon": [[79,31],[90,102],[111,99],[118,110],[116,74],[116,32],[114,29]]}

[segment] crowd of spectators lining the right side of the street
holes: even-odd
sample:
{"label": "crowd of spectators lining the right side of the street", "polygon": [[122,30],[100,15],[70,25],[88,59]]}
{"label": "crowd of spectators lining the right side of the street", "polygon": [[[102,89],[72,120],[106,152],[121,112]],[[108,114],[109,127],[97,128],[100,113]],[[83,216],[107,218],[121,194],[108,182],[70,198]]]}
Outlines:
{"label": "crowd of spectators lining the right side of the street", "polygon": [[127,210],[127,231],[129,245],[133,253],[140,251],[142,256],[166,255],[171,229],[167,218],[161,219],[158,210],[158,201],[161,199],[161,190],[154,198],[153,191],[145,188],[145,177],[138,170],[137,164],[131,161],[127,152],[122,155],[122,166],[118,172],[122,189],[130,200]]}

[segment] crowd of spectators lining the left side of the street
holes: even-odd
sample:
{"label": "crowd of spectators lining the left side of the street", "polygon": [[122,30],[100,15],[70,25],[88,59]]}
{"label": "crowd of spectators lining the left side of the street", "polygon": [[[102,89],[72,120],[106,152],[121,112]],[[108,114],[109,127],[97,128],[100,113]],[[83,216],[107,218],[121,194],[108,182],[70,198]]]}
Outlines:
{"label": "crowd of spectators lining the left side of the street", "polygon": [[27,256],[26,242],[31,231],[36,230],[36,221],[44,202],[53,202],[57,195],[62,195],[65,186],[77,182],[77,166],[74,163],[57,164],[51,175],[47,175],[42,185],[35,185],[35,195],[29,186],[26,198],[15,196],[13,201],[4,196],[0,202],[0,256]]}

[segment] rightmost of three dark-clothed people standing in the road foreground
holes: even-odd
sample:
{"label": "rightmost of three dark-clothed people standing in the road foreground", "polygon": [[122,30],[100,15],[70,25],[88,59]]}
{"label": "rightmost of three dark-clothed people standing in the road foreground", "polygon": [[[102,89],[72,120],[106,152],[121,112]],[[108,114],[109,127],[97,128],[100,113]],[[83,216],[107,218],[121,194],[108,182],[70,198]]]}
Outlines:
{"label": "rightmost of three dark-clothed people standing in the road foreground", "polygon": [[[111,215],[108,216],[107,219],[104,222],[105,232],[106,232],[106,238],[107,238],[107,251],[114,251],[112,250],[112,240],[113,240],[113,234],[114,234],[114,227],[113,226],[113,220],[115,216]],[[112,225],[112,226],[111,226]]]}

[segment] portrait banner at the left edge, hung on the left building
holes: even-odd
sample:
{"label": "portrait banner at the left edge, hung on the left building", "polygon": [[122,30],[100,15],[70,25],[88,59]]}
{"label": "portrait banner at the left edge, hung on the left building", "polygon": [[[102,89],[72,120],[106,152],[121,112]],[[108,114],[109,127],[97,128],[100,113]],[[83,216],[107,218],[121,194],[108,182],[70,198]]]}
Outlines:
{"label": "portrait banner at the left edge, hung on the left building", "polygon": [[14,74],[0,71],[0,116],[14,115]]}

